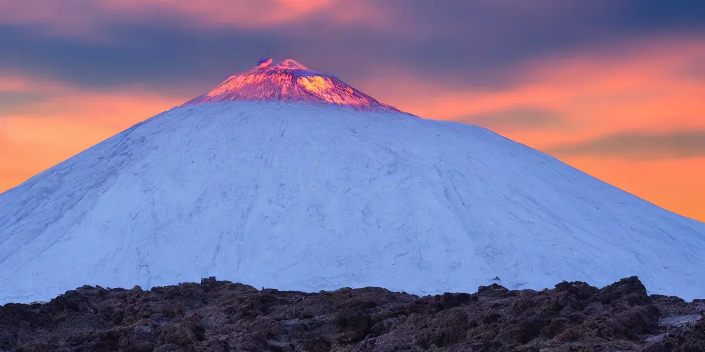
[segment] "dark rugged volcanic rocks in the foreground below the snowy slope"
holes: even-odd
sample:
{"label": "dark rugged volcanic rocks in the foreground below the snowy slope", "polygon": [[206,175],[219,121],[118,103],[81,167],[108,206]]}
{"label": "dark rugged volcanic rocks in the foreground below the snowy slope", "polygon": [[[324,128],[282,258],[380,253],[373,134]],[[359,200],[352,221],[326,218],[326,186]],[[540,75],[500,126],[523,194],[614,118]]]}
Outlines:
{"label": "dark rugged volcanic rocks in the foreground below the snowy slope", "polygon": [[0,351],[705,351],[705,301],[498,284],[419,298],[379,288],[307,294],[203,279],[144,291],[81,287],[0,307]]}

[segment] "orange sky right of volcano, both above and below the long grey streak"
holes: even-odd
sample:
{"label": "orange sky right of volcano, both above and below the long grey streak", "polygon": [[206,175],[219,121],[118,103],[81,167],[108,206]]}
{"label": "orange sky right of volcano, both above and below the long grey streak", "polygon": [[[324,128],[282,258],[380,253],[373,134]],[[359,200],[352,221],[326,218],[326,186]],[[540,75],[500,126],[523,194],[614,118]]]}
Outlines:
{"label": "orange sky right of volcano, both above and below the long grey streak", "polygon": [[[446,87],[438,80],[393,72],[358,84],[364,92],[424,118],[485,125],[540,150],[588,142],[619,132],[668,134],[705,130],[705,44],[701,40],[651,41],[594,56],[558,57],[527,65],[503,89]],[[535,128],[492,124],[544,111]],[[509,114],[512,115],[509,115]],[[533,114],[533,113],[532,113]],[[526,123],[536,120],[527,115]],[[557,119],[551,122],[551,118]],[[548,121],[548,122],[546,122]],[[632,161],[559,156],[570,165],[659,206],[705,220],[705,158]]]}

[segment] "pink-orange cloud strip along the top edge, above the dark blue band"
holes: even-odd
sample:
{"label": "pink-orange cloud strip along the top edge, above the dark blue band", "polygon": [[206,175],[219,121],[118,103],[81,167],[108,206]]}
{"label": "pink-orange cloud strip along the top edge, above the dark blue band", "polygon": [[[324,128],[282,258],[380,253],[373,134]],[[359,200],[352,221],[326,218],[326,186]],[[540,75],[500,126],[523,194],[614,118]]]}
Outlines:
{"label": "pink-orange cloud strip along the top edge, above the dark blue band", "polygon": [[[0,23],[49,27],[49,34],[92,38],[106,23],[177,16],[197,27],[264,28],[304,22],[314,15],[326,25],[361,24],[386,27],[381,10],[363,1],[343,0],[23,0],[0,2]],[[105,38],[101,38],[105,40]]]}

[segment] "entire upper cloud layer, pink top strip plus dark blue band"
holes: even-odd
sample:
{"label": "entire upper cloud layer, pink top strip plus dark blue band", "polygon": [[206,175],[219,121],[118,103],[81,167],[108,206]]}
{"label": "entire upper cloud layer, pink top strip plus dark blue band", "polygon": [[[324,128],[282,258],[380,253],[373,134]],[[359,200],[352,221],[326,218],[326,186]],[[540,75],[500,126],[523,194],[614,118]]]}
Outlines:
{"label": "entire upper cloud layer, pink top strip plus dark blue band", "polygon": [[2,1],[0,68],[91,88],[197,94],[262,56],[291,56],[352,83],[400,68],[496,89],[515,84],[528,61],[591,55],[654,33],[701,39],[697,3]]}

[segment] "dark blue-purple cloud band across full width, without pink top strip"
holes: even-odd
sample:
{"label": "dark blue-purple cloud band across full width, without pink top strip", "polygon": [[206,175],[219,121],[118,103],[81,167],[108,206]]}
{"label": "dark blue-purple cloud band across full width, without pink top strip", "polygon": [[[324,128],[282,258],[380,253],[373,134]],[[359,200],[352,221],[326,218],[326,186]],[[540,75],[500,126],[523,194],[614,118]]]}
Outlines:
{"label": "dark blue-purple cloud band across full width, without pink top strip", "polygon": [[526,60],[591,53],[653,34],[705,34],[705,1],[542,0],[535,11],[499,0],[372,4],[393,13],[392,31],[331,27],[317,18],[264,30],[208,30],[165,15],[150,23],[111,19],[101,28],[111,40],[100,43],[0,25],[0,68],[94,89],[139,83],[196,94],[259,58],[290,56],[353,85],[393,64],[448,84],[495,87],[515,79],[513,68]]}

